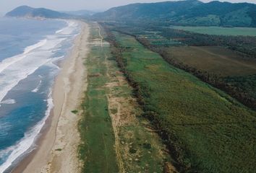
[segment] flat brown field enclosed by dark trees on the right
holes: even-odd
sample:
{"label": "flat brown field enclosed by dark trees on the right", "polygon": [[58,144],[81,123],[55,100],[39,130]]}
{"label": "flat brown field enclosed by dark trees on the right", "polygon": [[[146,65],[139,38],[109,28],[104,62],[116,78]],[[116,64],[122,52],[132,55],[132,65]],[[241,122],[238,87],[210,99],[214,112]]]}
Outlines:
{"label": "flat brown field enclosed by dark trees on the right", "polygon": [[219,46],[175,46],[165,48],[169,58],[220,76],[256,74],[256,60]]}

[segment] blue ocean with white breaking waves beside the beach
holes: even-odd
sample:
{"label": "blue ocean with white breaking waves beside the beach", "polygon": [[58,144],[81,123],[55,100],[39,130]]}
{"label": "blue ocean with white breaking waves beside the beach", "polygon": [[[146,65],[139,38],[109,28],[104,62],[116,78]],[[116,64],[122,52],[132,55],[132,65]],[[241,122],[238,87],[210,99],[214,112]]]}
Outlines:
{"label": "blue ocean with white breaking waves beside the beach", "polygon": [[74,21],[0,18],[0,173],[36,147],[58,64],[79,32]]}

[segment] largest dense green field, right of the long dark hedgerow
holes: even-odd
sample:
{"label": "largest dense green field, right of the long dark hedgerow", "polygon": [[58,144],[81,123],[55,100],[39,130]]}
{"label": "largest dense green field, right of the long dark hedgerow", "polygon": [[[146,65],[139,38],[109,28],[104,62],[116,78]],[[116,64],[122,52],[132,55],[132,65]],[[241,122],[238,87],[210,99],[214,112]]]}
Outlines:
{"label": "largest dense green field, right of the long dark hedgerow", "polygon": [[145,116],[167,133],[181,172],[255,172],[255,112],[114,32]]}

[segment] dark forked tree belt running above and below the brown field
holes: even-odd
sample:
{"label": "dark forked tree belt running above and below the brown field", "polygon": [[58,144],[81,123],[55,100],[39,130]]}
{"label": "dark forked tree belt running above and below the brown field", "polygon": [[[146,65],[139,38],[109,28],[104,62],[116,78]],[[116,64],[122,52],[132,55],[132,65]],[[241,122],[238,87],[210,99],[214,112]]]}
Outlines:
{"label": "dark forked tree belt running above and below the brown field", "polygon": [[[218,89],[221,89],[223,92],[226,92],[231,97],[234,97],[243,105],[256,109],[256,97],[255,94],[250,94],[247,92],[247,89],[244,89],[241,85],[237,83],[231,83],[228,79],[224,79],[217,74],[209,73],[208,71],[198,70],[195,67],[187,66],[182,62],[178,62],[171,58],[170,54],[166,51],[166,46],[168,45],[153,45],[150,40],[145,37],[140,37],[140,35],[145,34],[145,25],[111,25],[111,30],[123,33],[125,35],[130,35],[135,37],[135,39],[144,45],[146,48],[154,51],[155,53],[160,54],[163,59],[168,63],[177,68],[180,68],[184,71],[197,76],[200,80],[215,86]],[[148,25],[147,30],[158,31],[159,34],[168,39],[180,39],[182,43],[193,46],[206,46],[206,45],[218,45],[225,46],[231,50],[236,50],[238,53],[241,53],[243,56],[256,58],[256,37],[247,37],[247,36],[223,36],[223,35],[203,35],[192,32],[187,32],[184,30],[174,30],[165,27],[155,27],[153,25]],[[256,91],[254,91],[256,92]]]}

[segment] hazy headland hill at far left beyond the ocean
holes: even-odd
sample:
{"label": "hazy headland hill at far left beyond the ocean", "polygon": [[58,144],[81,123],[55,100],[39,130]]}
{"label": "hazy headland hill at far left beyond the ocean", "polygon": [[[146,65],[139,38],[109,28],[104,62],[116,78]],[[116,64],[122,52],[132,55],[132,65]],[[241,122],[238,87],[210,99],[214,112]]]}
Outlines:
{"label": "hazy headland hill at far left beyond the ocean", "polygon": [[45,8],[32,8],[30,6],[18,6],[16,9],[13,9],[11,12],[8,12],[6,17],[29,17],[29,18],[71,18],[71,14],[65,14],[61,12],[56,12],[51,9]]}

